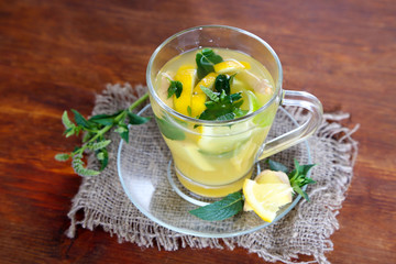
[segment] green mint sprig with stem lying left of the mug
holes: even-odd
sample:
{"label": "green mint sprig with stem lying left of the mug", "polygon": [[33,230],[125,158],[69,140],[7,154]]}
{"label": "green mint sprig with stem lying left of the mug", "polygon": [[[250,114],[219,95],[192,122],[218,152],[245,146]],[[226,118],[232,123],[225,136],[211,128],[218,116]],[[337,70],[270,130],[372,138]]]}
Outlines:
{"label": "green mint sprig with stem lying left of the mug", "polygon": [[[100,172],[89,169],[85,166],[82,161],[85,151],[91,151],[96,154],[100,163],[100,170],[102,170],[109,161],[109,153],[107,146],[111,143],[111,140],[107,140],[105,134],[112,128],[120,134],[124,141],[129,141],[129,128],[128,124],[144,124],[150,118],[140,117],[133,113],[133,110],[143,103],[148,98],[148,94],[143,95],[136,101],[134,101],[128,109],[118,111],[113,114],[97,114],[90,119],[84,118],[77,110],[72,109],[74,113],[73,122],[67,111],[64,111],[62,116],[62,122],[65,127],[65,136],[79,135],[80,132],[85,132],[82,138],[82,145],[77,146],[73,152],[59,153],[55,155],[55,160],[65,162],[72,158],[72,166],[76,174],[80,176],[96,176]],[[128,122],[127,122],[128,121]]]}

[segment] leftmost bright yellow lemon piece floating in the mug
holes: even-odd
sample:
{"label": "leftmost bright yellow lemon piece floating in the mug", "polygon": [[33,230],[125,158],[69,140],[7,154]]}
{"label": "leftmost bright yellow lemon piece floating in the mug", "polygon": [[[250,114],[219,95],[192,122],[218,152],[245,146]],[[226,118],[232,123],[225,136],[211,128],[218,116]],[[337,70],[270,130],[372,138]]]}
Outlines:
{"label": "leftmost bright yellow lemon piece floating in the mug", "polygon": [[177,112],[188,116],[188,107],[191,107],[191,95],[197,76],[197,69],[193,65],[183,65],[175,75],[175,80],[183,84],[183,91],[179,98],[174,96],[174,108]]}

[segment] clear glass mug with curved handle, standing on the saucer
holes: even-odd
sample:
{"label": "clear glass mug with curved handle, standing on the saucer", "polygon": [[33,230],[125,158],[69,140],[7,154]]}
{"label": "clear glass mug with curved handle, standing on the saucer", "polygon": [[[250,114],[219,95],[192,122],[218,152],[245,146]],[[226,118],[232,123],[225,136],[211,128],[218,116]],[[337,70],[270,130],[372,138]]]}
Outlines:
{"label": "clear glass mug with curved handle, standing on the saucer", "polygon": [[[221,47],[249,54],[272,75],[275,92],[258,110],[229,121],[198,120],[176,112],[163,102],[155,87],[161,68],[185,52]],[[315,133],[322,106],[305,91],[282,89],[282,65],[274,50],[256,35],[231,26],[205,25],[182,31],[153,53],[146,72],[150,101],[160,131],[172,152],[174,169],[188,190],[205,197],[223,197],[242,188],[253,165]],[[296,106],[311,114],[300,127],[265,142],[279,106]]]}

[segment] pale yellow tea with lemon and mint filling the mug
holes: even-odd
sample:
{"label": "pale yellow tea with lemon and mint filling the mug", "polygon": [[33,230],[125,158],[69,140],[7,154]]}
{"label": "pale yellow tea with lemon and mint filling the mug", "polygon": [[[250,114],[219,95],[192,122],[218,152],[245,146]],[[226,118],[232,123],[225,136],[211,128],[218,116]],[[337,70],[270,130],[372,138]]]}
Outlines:
{"label": "pale yellow tea with lemon and mint filling the mug", "polygon": [[[222,197],[242,188],[276,113],[276,100],[261,109],[270,103],[274,87],[262,64],[226,48],[188,51],[162,67],[154,84],[156,94],[188,119],[153,110],[176,175],[187,189]],[[246,117],[255,111],[254,118]],[[197,125],[194,119],[207,122]],[[234,122],[219,125],[226,120]]]}

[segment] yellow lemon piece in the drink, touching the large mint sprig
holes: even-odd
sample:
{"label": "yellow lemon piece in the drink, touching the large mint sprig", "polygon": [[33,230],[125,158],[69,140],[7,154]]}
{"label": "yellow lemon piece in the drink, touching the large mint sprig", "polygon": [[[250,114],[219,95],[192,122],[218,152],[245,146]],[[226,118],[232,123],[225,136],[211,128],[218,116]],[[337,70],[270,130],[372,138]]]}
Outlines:
{"label": "yellow lemon piece in the drink, touching the large mint sprig", "polygon": [[202,89],[200,87],[204,86],[206,88],[211,89],[215,85],[215,80],[216,80],[217,76],[218,75],[215,73],[208,74],[194,88],[193,97],[191,97],[191,117],[193,118],[198,117],[206,109],[205,102],[207,100],[207,96],[205,95],[205,92],[202,91]]}

